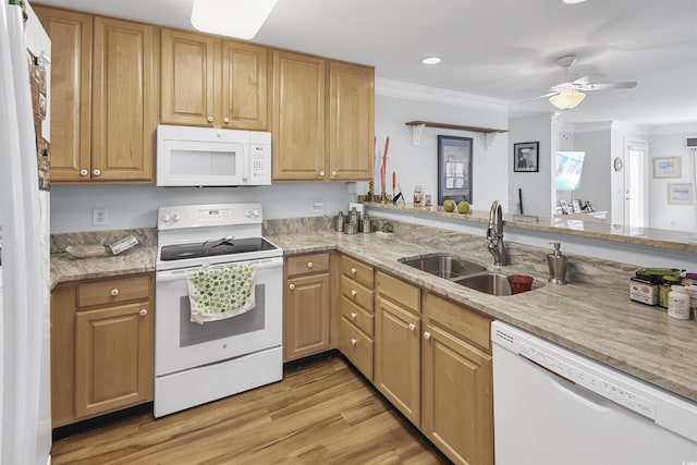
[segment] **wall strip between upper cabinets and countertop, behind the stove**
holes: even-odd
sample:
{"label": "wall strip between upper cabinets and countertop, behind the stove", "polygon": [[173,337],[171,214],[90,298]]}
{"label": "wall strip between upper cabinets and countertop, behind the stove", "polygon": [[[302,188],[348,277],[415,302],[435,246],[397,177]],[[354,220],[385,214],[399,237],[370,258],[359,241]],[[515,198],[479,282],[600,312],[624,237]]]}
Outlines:
{"label": "wall strip between upper cabinets and countertop, behind the stove", "polygon": [[[161,206],[257,201],[264,218],[337,215],[355,201],[347,194],[355,183],[285,183],[258,187],[156,187],[155,185],[53,185],[51,186],[51,233],[156,228]],[[313,209],[314,200],[323,207]],[[109,223],[91,225],[91,209],[108,207]]]}

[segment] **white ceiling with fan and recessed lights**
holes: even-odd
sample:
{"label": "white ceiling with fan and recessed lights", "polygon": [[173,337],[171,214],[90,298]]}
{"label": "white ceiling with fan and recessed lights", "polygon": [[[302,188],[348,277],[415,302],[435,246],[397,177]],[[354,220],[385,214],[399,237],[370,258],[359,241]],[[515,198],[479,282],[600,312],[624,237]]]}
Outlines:
{"label": "white ceiling with fan and recessed lights", "polygon": [[[38,1],[37,1],[38,3]],[[40,3],[192,29],[192,0]],[[503,99],[513,117],[553,110],[516,101],[571,78],[636,81],[592,91],[565,122],[697,122],[697,0],[279,0],[253,40],[370,64],[376,76]],[[427,66],[420,59],[439,56]]]}

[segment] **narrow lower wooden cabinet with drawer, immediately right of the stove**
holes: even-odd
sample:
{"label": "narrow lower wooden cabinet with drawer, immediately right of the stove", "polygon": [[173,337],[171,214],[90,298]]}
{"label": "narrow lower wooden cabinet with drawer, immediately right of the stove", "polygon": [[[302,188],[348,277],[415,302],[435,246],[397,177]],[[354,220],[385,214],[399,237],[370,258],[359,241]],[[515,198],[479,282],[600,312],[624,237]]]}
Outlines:
{"label": "narrow lower wooden cabinet with drawer, immediately right of the stove", "polygon": [[329,253],[285,259],[283,362],[329,350]]}

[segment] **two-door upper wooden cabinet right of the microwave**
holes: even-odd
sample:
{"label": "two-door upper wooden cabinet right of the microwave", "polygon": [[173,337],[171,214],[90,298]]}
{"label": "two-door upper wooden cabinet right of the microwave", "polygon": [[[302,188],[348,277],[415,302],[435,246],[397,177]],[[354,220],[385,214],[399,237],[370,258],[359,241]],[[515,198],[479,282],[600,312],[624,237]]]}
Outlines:
{"label": "two-door upper wooden cabinet right of the microwave", "polygon": [[372,178],[374,70],[273,52],[273,180]]}

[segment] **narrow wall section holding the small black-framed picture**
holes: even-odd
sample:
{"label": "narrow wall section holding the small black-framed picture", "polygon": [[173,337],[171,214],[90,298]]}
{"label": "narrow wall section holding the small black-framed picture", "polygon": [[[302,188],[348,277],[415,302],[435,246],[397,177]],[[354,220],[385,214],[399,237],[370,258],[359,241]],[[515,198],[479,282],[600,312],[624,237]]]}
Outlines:
{"label": "narrow wall section holding the small black-framed picture", "polygon": [[[519,213],[518,188],[523,189],[523,212],[525,215],[549,217],[551,211],[552,167],[552,122],[550,114],[516,118],[510,122],[509,133],[509,209]],[[513,145],[525,142],[539,142],[539,171],[513,172]]]}

